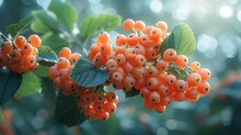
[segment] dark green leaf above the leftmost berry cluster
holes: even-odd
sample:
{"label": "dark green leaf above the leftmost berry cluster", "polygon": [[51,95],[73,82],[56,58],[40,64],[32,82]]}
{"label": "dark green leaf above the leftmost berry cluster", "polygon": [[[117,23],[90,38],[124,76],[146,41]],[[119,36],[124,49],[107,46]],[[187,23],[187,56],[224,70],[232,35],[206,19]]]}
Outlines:
{"label": "dark green leaf above the leftmost berry cluster", "polygon": [[5,31],[11,34],[12,37],[15,37],[16,35],[20,34],[20,32],[31,23],[33,20],[33,16],[26,16],[20,20],[19,23],[13,23],[9,26],[5,27]]}

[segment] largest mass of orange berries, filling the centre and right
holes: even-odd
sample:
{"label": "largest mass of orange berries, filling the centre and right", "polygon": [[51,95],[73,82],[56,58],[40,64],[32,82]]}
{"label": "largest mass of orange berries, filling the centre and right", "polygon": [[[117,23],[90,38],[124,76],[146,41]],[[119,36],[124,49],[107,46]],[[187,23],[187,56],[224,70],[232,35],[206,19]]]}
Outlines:
{"label": "largest mass of orange berries, filling the centre and right", "polygon": [[134,32],[117,35],[114,52],[107,32],[101,32],[89,50],[89,59],[96,67],[106,66],[115,89],[138,90],[144,106],[158,113],[174,100],[195,102],[210,90],[210,71],[200,68],[198,61],[187,66],[188,58],[173,48],[160,54],[168,35],[167,23],[159,21],[156,26],[146,26],[142,21],[127,19],[123,27]]}

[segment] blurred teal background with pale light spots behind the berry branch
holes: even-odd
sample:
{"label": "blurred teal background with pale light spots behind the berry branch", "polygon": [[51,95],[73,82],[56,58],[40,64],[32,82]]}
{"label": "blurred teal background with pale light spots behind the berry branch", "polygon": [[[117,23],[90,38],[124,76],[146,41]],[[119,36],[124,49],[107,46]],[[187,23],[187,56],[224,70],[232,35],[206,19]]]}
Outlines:
{"label": "blurred teal background with pale light spots behind the berry branch", "polygon": [[[42,93],[15,98],[3,108],[15,135],[227,135],[241,134],[241,1],[240,0],[68,0],[79,21],[90,14],[116,13],[147,25],[165,21],[169,32],[186,22],[197,45],[190,61],[211,70],[211,91],[196,103],[173,102],[162,114],[146,110],[141,98],[124,99],[107,122],[85,122],[68,128],[53,119],[54,100]],[[50,0],[0,0],[0,32],[47,10]],[[112,41],[122,27],[111,32]],[[73,47],[74,48],[74,47]],[[31,102],[30,102],[31,101]],[[51,102],[53,101],[53,102]],[[1,135],[2,133],[0,133]]]}

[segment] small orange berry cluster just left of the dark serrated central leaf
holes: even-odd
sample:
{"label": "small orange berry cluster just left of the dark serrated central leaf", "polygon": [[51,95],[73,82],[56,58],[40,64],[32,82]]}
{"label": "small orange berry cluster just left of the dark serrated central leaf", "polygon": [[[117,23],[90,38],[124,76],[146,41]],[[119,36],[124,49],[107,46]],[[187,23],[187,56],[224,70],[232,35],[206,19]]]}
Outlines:
{"label": "small orange berry cluster just left of the dark serrated central leaf", "polygon": [[78,85],[69,78],[69,75],[80,56],[78,53],[71,54],[68,47],[64,47],[59,52],[56,65],[48,69],[48,76],[54,81],[55,87],[66,95],[72,94],[78,89]]}

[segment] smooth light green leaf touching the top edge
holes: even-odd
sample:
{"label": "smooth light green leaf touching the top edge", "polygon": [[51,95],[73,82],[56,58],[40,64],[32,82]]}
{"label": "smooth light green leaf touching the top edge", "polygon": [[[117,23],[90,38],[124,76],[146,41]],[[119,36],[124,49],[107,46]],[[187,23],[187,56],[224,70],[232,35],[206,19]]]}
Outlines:
{"label": "smooth light green leaf touching the top edge", "polygon": [[54,12],[58,20],[69,30],[73,29],[73,24],[78,20],[77,10],[66,0],[51,0],[48,10]]}

